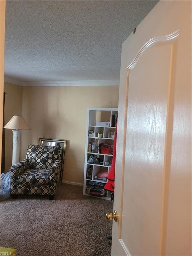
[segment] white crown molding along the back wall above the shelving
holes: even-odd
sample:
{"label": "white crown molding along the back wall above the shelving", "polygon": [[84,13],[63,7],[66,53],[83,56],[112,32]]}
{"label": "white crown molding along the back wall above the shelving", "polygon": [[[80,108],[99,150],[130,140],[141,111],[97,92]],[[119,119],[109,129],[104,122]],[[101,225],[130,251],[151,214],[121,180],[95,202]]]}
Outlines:
{"label": "white crown molding along the back wall above the shelving", "polygon": [[30,81],[22,86],[119,86],[119,80]]}

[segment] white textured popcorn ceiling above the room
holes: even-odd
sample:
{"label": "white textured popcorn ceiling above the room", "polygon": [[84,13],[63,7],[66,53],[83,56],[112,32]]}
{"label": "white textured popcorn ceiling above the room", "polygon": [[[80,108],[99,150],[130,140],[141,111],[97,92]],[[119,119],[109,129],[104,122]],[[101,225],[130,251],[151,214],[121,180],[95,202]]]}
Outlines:
{"label": "white textured popcorn ceiling above the room", "polygon": [[121,45],[157,1],[6,1],[5,76],[117,80]]}

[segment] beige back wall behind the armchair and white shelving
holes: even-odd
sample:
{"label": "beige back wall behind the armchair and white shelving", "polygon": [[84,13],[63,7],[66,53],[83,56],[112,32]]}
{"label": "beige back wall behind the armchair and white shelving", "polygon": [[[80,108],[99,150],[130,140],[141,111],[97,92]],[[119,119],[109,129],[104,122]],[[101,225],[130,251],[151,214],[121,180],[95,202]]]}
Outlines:
{"label": "beige back wall behind the armchair and white shelving", "polygon": [[83,183],[88,107],[118,107],[119,86],[23,87],[21,158],[40,137],[66,139],[63,180]]}

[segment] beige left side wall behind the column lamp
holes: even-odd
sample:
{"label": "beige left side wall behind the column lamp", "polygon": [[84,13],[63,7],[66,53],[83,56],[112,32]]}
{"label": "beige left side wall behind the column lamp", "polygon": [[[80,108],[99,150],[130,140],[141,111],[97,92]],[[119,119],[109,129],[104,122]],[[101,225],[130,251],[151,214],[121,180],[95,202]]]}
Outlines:
{"label": "beige left side wall behind the column lamp", "polygon": [[[4,82],[5,94],[5,124],[14,115],[22,115],[22,86]],[[21,135],[22,136],[22,135]],[[12,164],[13,133],[5,129],[5,172]]]}

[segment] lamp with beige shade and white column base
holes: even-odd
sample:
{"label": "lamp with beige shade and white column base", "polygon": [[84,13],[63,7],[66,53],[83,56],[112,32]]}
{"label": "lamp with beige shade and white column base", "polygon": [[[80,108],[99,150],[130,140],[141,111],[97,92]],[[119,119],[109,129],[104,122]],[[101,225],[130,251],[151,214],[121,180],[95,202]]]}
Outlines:
{"label": "lamp with beige shade and white column base", "polygon": [[13,116],[9,120],[9,122],[4,126],[4,128],[16,129],[16,130],[12,130],[13,132],[12,165],[14,165],[19,162],[21,130],[30,130],[30,128],[22,116]]}

